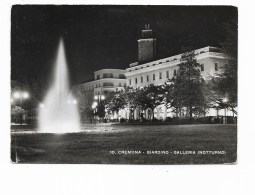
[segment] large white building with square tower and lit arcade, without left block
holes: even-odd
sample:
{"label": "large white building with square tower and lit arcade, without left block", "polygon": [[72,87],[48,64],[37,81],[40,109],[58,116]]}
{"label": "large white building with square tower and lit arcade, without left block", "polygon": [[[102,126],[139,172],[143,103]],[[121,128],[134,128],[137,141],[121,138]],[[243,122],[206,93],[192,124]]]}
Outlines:
{"label": "large white building with square tower and lit arcade, without left block", "polygon": [[[138,40],[138,60],[131,63],[126,69],[125,76],[128,87],[142,88],[150,84],[163,85],[177,73],[182,54],[156,60],[155,48],[156,39],[153,38],[149,26],[145,25],[145,30],[142,30],[142,38]],[[217,76],[227,66],[226,55],[219,48],[207,46],[195,50],[195,54],[197,62],[201,65],[199,68],[201,76],[205,80]],[[128,110],[127,112],[129,113]],[[138,109],[135,110],[134,119],[139,119],[141,112]],[[127,118],[129,117],[128,113],[126,114]],[[224,110],[210,109],[208,115],[216,116],[217,114],[223,115],[223,113]],[[157,119],[164,120],[166,117],[173,117],[175,114],[171,109],[160,105],[154,111],[148,109],[143,113],[143,116],[147,119],[151,119],[152,115]],[[227,115],[230,115],[228,111]]]}

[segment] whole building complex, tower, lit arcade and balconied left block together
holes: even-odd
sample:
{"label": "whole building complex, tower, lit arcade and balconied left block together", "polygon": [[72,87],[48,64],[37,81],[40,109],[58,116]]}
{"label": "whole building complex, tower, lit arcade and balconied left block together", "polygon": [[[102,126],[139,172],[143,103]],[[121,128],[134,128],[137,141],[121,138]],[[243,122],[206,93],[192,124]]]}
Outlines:
{"label": "whole building complex, tower, lit arcade and balconied left block together", "polygon": [[[73,87],[74,93],[80,102],[81,109],[84,105],[91,105],[95,95],[107,94],[109,91],[122,90],[126,87],[142,88],[150,84],[163,85],[171,79],[178,71],[178,65],[181,63],[182,54],[171,57],[156,58],[156,39],[153,37],[150,25],[146,24],[142,30],[142,37],[138,39],[138,57],[137,61],[129,64],[126,70],[121,69],[102,69],[94,72],[94,80]],[[199,68],[201,76],[208,80],[217,76],[227,66],[227,58],[219,48],[207,46],[195,50],[197,62],[201,65]],[[84,103],[84,101],[87,101]],[[83,102],[83,103],[82,103]],[[140,111],[138,109],[130,111],[125,108],[116,115],[119,118],[129,119],[130,112],[134,113],[134,119],[140,119],[141,112],[143,117],[152,119],[154,115],[157,119],[166,119],[175,114],[171,109],[160,105],[155,110]],[[224,110],[210,109],[208,115],[223,115]],[[227,111],[227,115],[231,115]]]}

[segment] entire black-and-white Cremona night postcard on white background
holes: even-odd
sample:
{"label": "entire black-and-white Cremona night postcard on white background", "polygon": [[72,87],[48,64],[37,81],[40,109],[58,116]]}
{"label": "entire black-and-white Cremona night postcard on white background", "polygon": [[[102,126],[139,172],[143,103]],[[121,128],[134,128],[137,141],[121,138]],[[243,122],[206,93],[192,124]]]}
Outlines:
{"label": "entire black-and-white Cremona night postcard on white background", "polygon": [[11,161],[235,164],[235,6],[13,5]]}

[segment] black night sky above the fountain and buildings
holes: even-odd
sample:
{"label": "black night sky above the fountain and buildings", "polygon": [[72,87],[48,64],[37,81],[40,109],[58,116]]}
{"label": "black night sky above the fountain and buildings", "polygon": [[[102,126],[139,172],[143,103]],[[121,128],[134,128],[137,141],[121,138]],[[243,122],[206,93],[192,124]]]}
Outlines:
{"label": "black night sky above the fountain and buildings", "polygon": [[11,78],[39,80],[45,86],[63,37],[71,84],[93,78],[102,68],[126,69],[137,61],[137,39],[149,23],[157,39],[158,58],[220,46],[225,23],[237,19],[235,7],[191,6],[13,6]]}

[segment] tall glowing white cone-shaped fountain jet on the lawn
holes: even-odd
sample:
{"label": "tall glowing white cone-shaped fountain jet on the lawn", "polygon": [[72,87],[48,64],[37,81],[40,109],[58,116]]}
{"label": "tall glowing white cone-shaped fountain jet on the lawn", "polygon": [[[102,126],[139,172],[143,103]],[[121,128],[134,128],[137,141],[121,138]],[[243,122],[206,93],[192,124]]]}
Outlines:
{"label": "tall glowing white cone-shaped fountain jet on the lawn", "polygon": [[54,79],[39,110],[39,132],[79,132],[77,102],[69,89],[64,44],[60,40]]}

